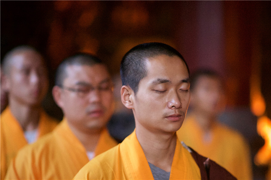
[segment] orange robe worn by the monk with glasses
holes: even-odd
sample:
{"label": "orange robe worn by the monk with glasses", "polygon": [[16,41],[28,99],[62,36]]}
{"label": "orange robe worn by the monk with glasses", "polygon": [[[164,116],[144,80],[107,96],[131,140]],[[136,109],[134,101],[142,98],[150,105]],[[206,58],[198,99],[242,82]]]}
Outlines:
{"label": "orange robe worn by the monk with glasses", "polygon": [[[117,142],[104,130],[95,155],[116,145]],[[88,162],[86,149],[64,118],[52,133],[18,152],[5,179],[72,179]]]}

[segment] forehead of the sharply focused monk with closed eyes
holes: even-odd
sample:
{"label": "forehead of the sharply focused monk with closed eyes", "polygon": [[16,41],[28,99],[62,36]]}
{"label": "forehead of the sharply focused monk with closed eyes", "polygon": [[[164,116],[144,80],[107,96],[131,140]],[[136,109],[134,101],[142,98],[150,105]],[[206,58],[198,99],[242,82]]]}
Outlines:
{"label": "forehead of the sharply focused monk with closed eyes", "polygon": [[159,55],[146,61],[148,79],[164,78],[170,81],[188,79],[185,63],[178,56]]}

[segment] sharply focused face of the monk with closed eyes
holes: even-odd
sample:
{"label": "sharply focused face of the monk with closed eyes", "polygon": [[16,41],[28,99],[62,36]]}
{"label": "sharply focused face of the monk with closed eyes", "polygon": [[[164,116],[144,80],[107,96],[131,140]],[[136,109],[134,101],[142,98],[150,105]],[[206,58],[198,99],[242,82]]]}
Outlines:
{"label": "sharply focused face of the monk with closed eyes", "polygon": [[190,100],[189,75],[178,56],[159,55],[146,62],[147,76],[132,98],[136,128],[151,132],[176,132]]}

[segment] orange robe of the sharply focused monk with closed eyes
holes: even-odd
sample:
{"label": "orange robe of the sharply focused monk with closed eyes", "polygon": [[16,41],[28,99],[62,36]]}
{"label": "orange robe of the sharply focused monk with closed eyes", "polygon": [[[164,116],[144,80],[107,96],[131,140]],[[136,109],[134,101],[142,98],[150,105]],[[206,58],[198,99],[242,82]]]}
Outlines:
{"label": "orange robe of the sharply focused monk with closed eyes", "polygon": [[[135,131],[87,163],[74,179],[154,179]],[[201,179],[192,155],[177,139],[170,179]]]}

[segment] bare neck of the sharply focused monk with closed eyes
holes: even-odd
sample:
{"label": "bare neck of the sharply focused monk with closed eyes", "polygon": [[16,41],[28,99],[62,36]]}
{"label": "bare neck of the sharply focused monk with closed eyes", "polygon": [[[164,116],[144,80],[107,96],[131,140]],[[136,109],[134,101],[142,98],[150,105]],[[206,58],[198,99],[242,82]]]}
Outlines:
{"label": "bare neck of the sharply focused monk with closed eyes", "polygon": [[170,172],[176,148],[176,133],[153,133],[136,126],[136,136],[148,162]]}

